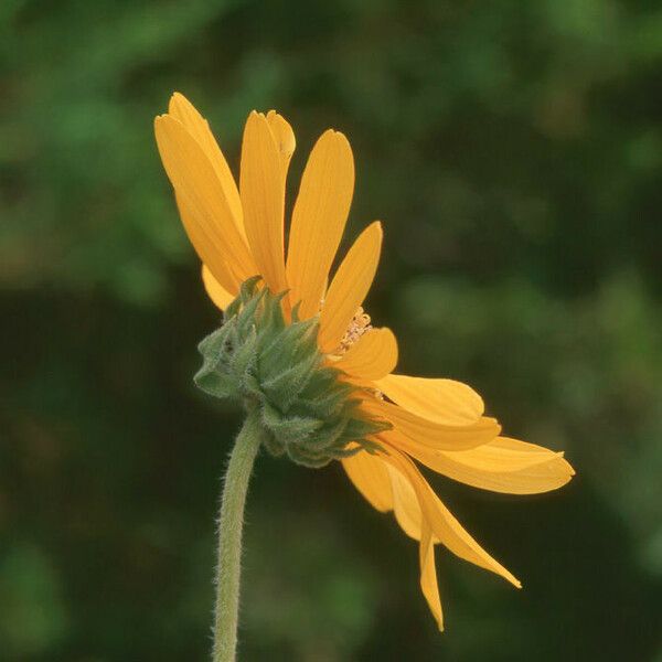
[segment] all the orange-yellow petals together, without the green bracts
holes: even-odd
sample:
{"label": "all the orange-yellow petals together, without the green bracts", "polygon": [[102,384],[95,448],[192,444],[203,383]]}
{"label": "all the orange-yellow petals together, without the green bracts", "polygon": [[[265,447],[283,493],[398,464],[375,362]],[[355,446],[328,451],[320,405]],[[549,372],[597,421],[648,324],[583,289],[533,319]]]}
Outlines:
{"label": "all the orange-yellow petals together, without the green bracts", "polygon": [[420,586],[439,629],[435,544],[520,587],[453,517],[414,460],[469,485],[512,494],[559,488],[573,468],[560,452],[500,436],[499,423],[483,415],[483,402],[469,386],[393,372],[395,337],[373,327],[362,308],[380,259],[380,222],[361,233],[330,277],[354,188],[346,138],[328,130],[314,145],[292,209],[286,258],[286,178],[296,143],[289,124],[274,110],[248,116],[238,189],[207,122],[181,94],[154,126],[214,303],[224,309],[256,275],[271,292],[287,291],[286,319],[296,305],[301,320],[319,316],[324,361],[361,388],[360,407],[369,417],[391,425],[374,435],[376,452],[361,449],[341,461],[363,496],[378,511],[393,511],[419,542]]}

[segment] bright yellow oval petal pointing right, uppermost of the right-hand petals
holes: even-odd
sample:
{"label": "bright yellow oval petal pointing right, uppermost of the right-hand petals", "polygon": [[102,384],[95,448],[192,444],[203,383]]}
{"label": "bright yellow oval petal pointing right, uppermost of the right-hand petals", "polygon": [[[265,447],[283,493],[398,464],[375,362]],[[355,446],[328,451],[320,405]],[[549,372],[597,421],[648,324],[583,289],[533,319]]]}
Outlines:
{"label": "bright yellow oval petal pointing right, uppermost of the right-hand petals", "polygon": [[480,395],[453,380],[387,375],[376,381],[375,386],[401,407],[436,423],[466,425],[478,420],[484,412]]}

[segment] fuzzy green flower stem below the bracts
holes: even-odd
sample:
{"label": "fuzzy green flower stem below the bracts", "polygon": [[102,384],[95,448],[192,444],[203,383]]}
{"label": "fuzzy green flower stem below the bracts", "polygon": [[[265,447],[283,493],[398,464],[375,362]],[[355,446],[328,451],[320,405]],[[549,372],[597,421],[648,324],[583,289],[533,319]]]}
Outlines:
{"label": "fuzzy green flower stem below the bracts", "polygon": [[229,456],[218,517],[213,662],[234,662],[237,648],[242,528],[248,479],[261,441],[259,410],[248,412]]}

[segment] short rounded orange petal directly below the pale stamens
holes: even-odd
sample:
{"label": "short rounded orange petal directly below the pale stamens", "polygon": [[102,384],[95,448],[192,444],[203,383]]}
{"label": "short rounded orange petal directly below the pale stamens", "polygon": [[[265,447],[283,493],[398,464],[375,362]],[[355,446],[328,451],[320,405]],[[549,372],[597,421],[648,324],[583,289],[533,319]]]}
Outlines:
{"label": "short rounded orange petal directly below the pale stamens", "polygon": [[364,333],[333,365],[351,377],[373,381],[387,375],[396,363],[397,341],[384,327]]}

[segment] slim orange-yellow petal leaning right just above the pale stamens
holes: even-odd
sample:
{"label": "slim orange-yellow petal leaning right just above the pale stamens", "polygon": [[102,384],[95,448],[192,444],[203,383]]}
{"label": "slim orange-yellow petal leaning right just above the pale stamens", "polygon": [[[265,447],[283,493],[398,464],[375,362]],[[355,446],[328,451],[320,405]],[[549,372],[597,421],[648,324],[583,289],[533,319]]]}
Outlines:
{"label": "slim orange-yellow petal leaning right just above the pale stamens", "polygon": [[333,352],[372,285],[382,249],[382,224],[371,223],[356,238],[338,267],[324,297],[318,343]]}

